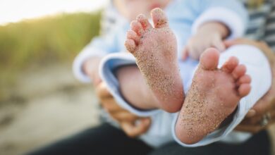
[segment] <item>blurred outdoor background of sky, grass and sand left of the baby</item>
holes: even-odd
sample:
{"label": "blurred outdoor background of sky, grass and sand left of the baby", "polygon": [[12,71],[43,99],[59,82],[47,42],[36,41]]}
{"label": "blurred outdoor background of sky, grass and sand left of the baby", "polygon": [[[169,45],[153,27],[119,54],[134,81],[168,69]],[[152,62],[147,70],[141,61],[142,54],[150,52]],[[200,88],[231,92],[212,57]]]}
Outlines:
{"label": "blurred outdoor background of sky, grass and sand left of the baby", "polygon": [[73,58],[99,34],[106,0],[0,0],[0,154],[24,154],[97,125]]}

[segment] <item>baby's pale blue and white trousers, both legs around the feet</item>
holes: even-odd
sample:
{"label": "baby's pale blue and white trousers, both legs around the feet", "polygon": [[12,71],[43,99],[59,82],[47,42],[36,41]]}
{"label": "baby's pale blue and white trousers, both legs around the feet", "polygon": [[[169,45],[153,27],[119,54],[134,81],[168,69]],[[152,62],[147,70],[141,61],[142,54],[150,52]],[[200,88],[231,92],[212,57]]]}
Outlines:
{"label": "baby's pale blue and white trousers, both legs around the feet", "polygon": [[[269,68],[269,62],[267,61],[267,58],[265,58],[259,49],[253,46],[238,45],[231,47],[221,54],[219,66],[221,66],[230,56],[238,57],[240,63],[245,64],[247,67],[247,74],[252,77],[252,90],[247,97],[244,97],[240,100],[240,103],[238,104],[238,110],[233,117],[233,121],[229,125],[212,132],[211,134],[207,135],[207,137],[204,137],[204,139],[200,142],[192,145],[183,144],[175,135],[174,126],[178,113],[169,114],[161,110],[140,111],[130,106],[130,104],[124,101],[123,97],[121,97],[121,94],[118,91],[118,80],[112,71],[114,68],[119,66],[135,64],[135,59],[133,56],[130,54],[111,54],[110,56],[104,58],[100,68],[100,75],[106,82],[106,85],[111,94],[114,96],[116,101],[118,101],[118,104],[120,104],[123,108],[131,111],[132,113],[135,113],[138,116],[152,116],[153,124],[151,125],[150,130],[141,137],[142,140],[145,140],[145,142],[151,146],[157,147],[161,144],[164,144],[167,142],[167,140],[171,140],[172,135],[176,142],[185,147],[198,147],[217,141],[239,143],[244,142],[251,135],[243,132],[233,132],[233,129],[236,127],[236,125],[238,125],[238,123],[240,123],[241,120],[243,120],[243,117],[247,111],[269,89],[271,85],[271,70]],[[188,87],[190,87],[190,81],[192,80],[193,72],[197,66],[197,62],[190,60],[185,62],[180,61],[179,66],[181,68],[181,77],[184,79],[183,85],[186,93]],[[165,135],[167,133],[169,133],[169,135]]]}

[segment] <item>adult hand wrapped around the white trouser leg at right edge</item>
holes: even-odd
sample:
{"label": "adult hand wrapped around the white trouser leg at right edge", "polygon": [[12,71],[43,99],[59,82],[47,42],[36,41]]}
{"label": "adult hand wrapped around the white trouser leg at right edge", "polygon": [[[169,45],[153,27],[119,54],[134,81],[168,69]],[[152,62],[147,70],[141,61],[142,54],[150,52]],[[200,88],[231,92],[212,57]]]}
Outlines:
{"label": "adult hand wrapped around the white trouser leg at right edge", "polygon": [[[268,128],[269,125],[275,122],[275,55],[269,46],[264,42],[256,42],[249,39],[235,39],[226,41],[224,44],[226,47],[236,44],[249,44],[256,46],[263,51],[267,58],[269,58],[269,63],[273,75],[271,88],[267,94],[259,99],[255,106],[250,109],[242,123],[236,127],[236,130],[239,131],[257,133],[260,130]],[[267,121],[264,122],[264,120]]]}

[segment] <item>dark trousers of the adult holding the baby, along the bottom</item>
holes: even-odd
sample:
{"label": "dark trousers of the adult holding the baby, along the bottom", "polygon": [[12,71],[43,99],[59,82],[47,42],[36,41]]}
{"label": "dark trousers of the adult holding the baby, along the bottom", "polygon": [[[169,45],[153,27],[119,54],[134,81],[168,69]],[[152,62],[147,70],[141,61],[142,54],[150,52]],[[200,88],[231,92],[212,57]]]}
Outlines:
{"label": "dark trousers of the adult holding the baby, along the bottom", "polygon": [[181,147],[176,142],[165,144],[157,149],[149,147],[144,142],[127,137],[123,131],[114,128],[108,123],[80,132],[42,149],[32,151],[30,155],[59,154],[118,154],[118,155],[269,155],[271,142],[267,131],[254,135],[243,144],[214,143],[204,147]]}

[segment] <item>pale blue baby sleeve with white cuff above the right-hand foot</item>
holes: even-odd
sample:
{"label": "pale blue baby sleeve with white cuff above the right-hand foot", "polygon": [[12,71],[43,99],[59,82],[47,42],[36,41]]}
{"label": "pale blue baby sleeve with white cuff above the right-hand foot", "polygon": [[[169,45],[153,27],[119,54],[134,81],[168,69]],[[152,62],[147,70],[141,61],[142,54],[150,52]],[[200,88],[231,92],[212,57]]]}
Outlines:
{"label": "pale blue baby sleeve with white cuff above the right-hand foot", "polygon": [[196,34],[204,23],[219,22],[226,25],[230,30],[228,38],[233,39],[244,35],[248,14],[239,1],[197,0],[194,5],[198,6],[199,11],[197,13],[199,16],[193,23],[193,34]]}

